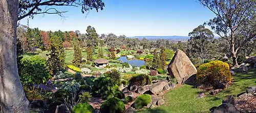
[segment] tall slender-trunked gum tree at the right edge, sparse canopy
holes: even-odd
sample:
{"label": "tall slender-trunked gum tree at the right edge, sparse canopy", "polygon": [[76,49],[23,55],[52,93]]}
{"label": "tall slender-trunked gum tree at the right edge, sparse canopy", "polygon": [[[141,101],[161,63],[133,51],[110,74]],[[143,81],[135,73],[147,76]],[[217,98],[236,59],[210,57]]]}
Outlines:
{"label": "tall slender-trunked gum tree at the right edge, sparse canopy", "polygon": [[199,0],[216,14],[207,25],[228,41],[233,65],[238,65],[240,49],[256,36],[255,0]]}

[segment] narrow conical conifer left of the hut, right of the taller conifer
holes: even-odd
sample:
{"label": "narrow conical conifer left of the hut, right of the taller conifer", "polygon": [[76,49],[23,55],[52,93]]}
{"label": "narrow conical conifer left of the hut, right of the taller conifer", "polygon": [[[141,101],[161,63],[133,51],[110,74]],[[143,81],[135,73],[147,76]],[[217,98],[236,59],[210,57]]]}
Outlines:
{"label": "narrow conical conifer left of the hut, right of the taller conifer", "polygon": [[73,65],[79,67],[82,62],[82,51],[80,50],[79,46],[77,45],[77,42],[74,44],[74,59],[73,59]]}

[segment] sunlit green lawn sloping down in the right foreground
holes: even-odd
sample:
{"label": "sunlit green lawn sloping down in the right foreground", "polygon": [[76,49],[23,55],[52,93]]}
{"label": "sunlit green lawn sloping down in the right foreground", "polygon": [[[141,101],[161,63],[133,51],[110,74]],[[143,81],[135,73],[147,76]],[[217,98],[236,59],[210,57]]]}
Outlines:
{"label": "sunlit green lawn sloping down in the right foreground", "polygon": [[143,109],[138,111],[156,112],[161,110],[163,113],[167,112],[210,112],[209,109],[214,106],[222,104],[222,100],[228,95],[238,95],[246,92],[248,86],[256,85],[256,69],[250,70],[248,73],[238,73],[233,76],[233,84],[221,93],[211,96],[208,92],[204,98],[196,99],[197,95],[201,93],[199,89],[193,86],[184,84],[177,87],[164,95],[165,104],[153,109]]}

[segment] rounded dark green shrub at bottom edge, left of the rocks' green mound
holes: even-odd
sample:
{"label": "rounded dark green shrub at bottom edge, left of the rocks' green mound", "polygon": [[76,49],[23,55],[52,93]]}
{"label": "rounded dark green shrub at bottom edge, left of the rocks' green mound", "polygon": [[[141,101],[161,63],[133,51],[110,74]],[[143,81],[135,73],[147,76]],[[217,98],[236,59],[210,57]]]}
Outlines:
{"label": "rounded dark green shrub at bottom edge, left of the rocks' green mound", "polygon": [[120,99],[114,97],[106,100],[101,104],[100,112],[101,113],[117,113],[117,112],[124,113],[125,106]]}

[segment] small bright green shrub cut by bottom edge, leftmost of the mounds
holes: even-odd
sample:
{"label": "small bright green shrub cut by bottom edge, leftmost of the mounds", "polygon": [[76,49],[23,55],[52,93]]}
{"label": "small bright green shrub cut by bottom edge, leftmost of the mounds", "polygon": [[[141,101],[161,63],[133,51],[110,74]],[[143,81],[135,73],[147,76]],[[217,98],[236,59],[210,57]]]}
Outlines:
{"label": "small bright green shrub cut by bottom edge, leftmost of the mounds", "polygon": [[93,106],[88,103],[80,103],[73,107],[72,113],[94,113],[95,110],[93,109]]}

